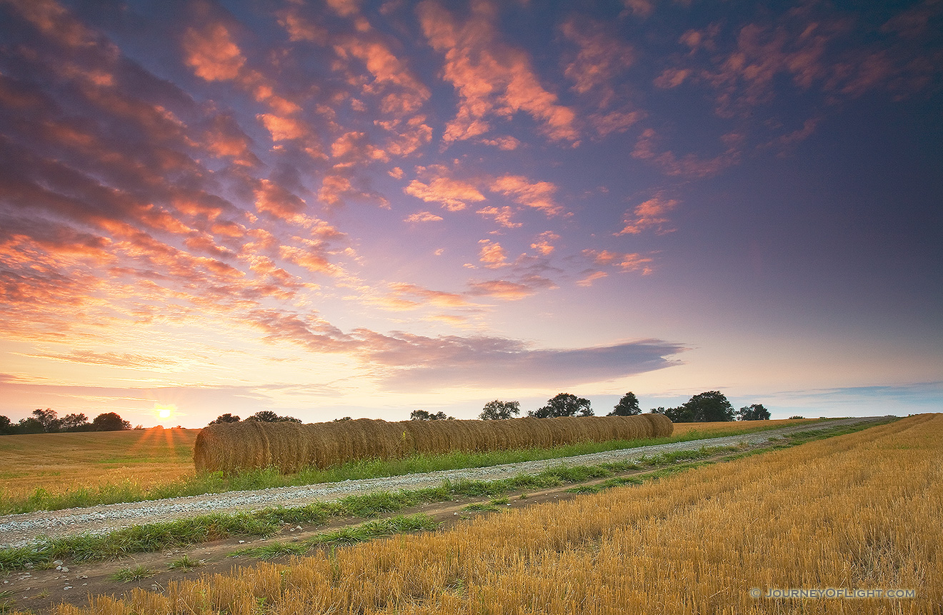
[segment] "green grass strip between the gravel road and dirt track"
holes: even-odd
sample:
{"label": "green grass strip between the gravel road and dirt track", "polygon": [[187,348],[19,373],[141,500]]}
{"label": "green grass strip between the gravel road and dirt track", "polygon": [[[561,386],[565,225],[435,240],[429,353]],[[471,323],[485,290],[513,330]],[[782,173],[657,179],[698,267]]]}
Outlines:
{"label": "green grass strip between the gravel road and dirt track", "polygon": [[[883,422],[883,423],[886,423]],[[851,425],[834,430],[810,430],[797,434],[796,440],[784,440],[782,446],[819,440],[860,431],[874,423]],[[191,519],[135,525],[104,535],[82,534],[58,539],[40,540],[35,545],[0,549],[0,571],[22,570],[44,566],[55,559],[75,561],[105,560],[134,553],[153,553],[170,547],[187,546],[209,540],[233,536],[271,536],[285,524],[323,524],[330,517],[355,516],[368,518],[382,513],[396,512],[430,502],[444,502],[455,496],[494,497],[516,490],[533,490],[564,484],[586,482],[594,478],[609,478],[633,470],[661,469],[647,475],[647,479],[677,474],[698,467],[700,461],[721,453],[735,451],[736,446],[702,447],[690,451],[661,453],[640,457],[634,461],[614,461],[594,466],[559,465],[538,474],[519,474],[492,481],[443,481],[438,487],[420,490],[376,491],[351,495],[335,502],[316,502],[306,507],[267,508],[256,512],[233,515],[213,514]],[[759,453],[762,451],[756,451]],[[745,453],[749,455],[751,453]],[[743,457],[735,455],[733,457]],[[693,463],[691,463],[693,461]],[[630,481],[627,481],[630,482]]]}

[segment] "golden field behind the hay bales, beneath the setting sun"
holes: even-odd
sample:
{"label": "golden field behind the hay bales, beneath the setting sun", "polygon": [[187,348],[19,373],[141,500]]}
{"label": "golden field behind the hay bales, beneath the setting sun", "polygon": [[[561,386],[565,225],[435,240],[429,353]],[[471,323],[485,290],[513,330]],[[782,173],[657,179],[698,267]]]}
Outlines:
{"label": "golden field behind the hay bales, beneath the setting sun", "polygon": [[[672,439],[773,428],[802,420],[675,424]],[[199,429],[151,428],[101,433],[35,434],[0,438],[0,507],[18,512],[37,507],[79,506],[81,491],[104,492],[102,502],[141,499],[148,491],[194,478],[193,442]],[[264,487],[266,485],[257,485]],[[200,492],[181,487],[180,494]],[[209,486],[211,489],[220,487]],[[252,486],[236,485],[235,488]],[[224,489],[225,486],[222,486]],[[94,494],[91,500],[95,500]],[[30,501],[36,506],[30,506]],[[92,502],[88,502],[91,504]]]}

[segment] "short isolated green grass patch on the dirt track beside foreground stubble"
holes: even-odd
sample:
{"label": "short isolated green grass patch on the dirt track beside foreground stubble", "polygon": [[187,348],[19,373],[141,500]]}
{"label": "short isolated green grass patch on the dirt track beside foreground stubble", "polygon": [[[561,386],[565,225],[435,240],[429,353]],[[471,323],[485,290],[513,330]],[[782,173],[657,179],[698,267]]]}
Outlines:
{"label": "short isolated green grass patch on the dirt track beside foreground stubble", "polygon": [[229,557],[258,557],[271,559],[282,556],[301,556],[317,546],[346,545],[357,542],[367,542],[393,534],[418,532],[436,529],[438,523],[424,513],[415,515],[398,515],[389,519],[377,519],[354,527],[344,527],[331,532],[323,532],[306,540],[298,542],[272,542],[260,547],[240,549],[229,554]]}

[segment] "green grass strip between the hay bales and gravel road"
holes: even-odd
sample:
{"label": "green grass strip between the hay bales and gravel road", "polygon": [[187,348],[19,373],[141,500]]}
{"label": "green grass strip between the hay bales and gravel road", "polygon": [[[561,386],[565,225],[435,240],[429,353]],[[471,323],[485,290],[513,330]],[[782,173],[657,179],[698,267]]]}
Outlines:
{"label": "green grass strip between the hay bales and gravel road", "polygon": [[[822,421],[828,421],[824,419]],[[324,470],[306,468],[298,474],[279,474],[273,469],[252,470],[240,474],[222,473],[201,474],[174,481],[150,489],[141,488],[131,481],[104,485],[97,489],[79,488],[62,493],[50,493],[38,489],[25,498],[8,498],[0,494],[0,514],[33,512],[36,510],[61,510],[63,508],[91,507],[100,504],[118,504],[121,502],[142,502],[185,495],[204,493],[223,493],[234,490],[256,490],[270,487],[293,487],[318,483],[333,483],[343,480],[379,478],[435,472],[438,470],[458,470],[463,468],[484,468],[505,463],[536,461],[559,457],[573,457],[588,453],[601,453],[624,448],[636,448],[653,444],[668,444],[723,438],[752,434],[759,431],[779,428],[780,425],[757,424],[749,429],[725,429],[711,433],[701,433],[696,429],[684,435],[670,438],[648,440],[609,440],[606,442],[576,442],[552,448],[526,448],[510,451],[490,451],[487,453],[463,453],[454,451],[444,455],[414,455],[401,459],[359,459]]]}

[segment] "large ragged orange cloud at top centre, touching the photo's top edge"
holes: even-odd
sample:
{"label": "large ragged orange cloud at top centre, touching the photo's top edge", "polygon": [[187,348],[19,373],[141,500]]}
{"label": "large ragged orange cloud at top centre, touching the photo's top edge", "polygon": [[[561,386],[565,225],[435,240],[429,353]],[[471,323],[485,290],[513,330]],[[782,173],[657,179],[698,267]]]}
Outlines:
{"label": "large ragged orange cloud at top centre, touching the photo's top edge", "polygon": [[445,56],[445,79],[459,94],[458,112],[446,126],[444,141],[477,137],[490,129],[489,116],[510,117],[518,111],[537,120],[550,139],[578,139],[575,114],[540,85],[527,53],[497,40],[493,4],[473,2],[462,25],[433,0],[422,2],[417,12],[429,43]]}

